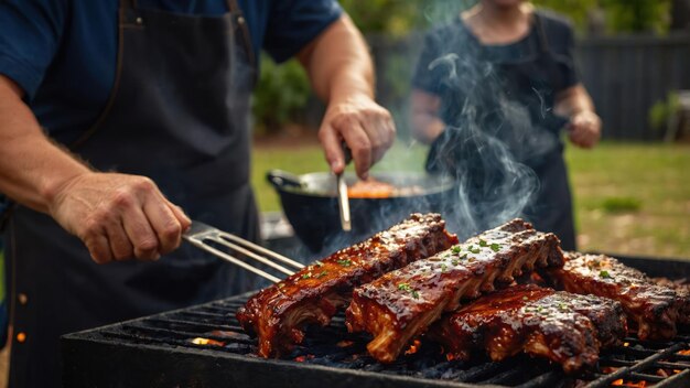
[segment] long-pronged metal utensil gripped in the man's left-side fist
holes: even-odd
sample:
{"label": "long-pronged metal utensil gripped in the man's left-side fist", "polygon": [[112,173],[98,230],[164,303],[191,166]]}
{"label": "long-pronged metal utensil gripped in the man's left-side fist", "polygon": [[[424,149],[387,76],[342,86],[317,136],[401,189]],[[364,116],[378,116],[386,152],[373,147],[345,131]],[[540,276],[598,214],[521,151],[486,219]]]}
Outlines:
{"label": "long-pronged metal utensil gripped in the man's left-side fist", "polygon": [[197,220],[192,222],[192,227],[190,227],[190,229],[182,235],[182,238],[193,246],[201,248],[219,259],[229,261],[274,283],[281,281],[281,279],[261,269],[252,267],[236,258],[235,256],[231,256],[228,252],[220,250],[219,248],[231,249],[238,254],[245,255],[247,258],[257,260],[288,276],[294,273],[294,270],[290,270],[276,261],[271,261],[269,258],[277,261],[282,261],[283,263],[294,268],[295,270],[304,268],[303,265],[292,259],[289,259],[280,254],[277,254],[270,249],[266,249],[251,241],[247,241],[244,238],[237,237],[235,235],[214,228],[213,226],[200,223]]}

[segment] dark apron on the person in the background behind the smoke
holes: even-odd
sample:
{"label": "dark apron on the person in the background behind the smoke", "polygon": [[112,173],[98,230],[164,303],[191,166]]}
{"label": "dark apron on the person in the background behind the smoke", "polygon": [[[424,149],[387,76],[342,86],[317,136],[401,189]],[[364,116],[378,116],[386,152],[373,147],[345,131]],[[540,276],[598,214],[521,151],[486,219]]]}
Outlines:
{"label": "dark apron on the person in the background behind the smoke", "polygon": [[[479,91],[484,93],[474,95],[481,99],[476,110],[482,110],[476,112],[475,118],[482,127],[481,130],[502,140],[515,160],[533,170],[539,179],[539,188],[522,209],[522,216],[533,223],[537,229],[556,233],[564,249],[574,250],[572,200],[562,154],[563,144],[560,141],[560,130],[568,120],[552,111],[554,90],[561,90],[564,83],[560,67],[565,64],[563,58],[550,50],[538,13],[535,13],[535,23],[537,47],[533,47],[531,55],[517,60],[487,60],[488,55],[482,48],[478,50],[479,58],[489,61],[494,72],[490,78],[487,78],[487,83],[477,83]],[[481,45],[478,42],[476,44]],[[496,88],[492,89],[488,84]],[[455,91],[462,94],[462,90]],[[456,106],[463,97],[450,95],[444,98],[455,105],[442,108],[446,111],[442,115],[445,116],[444,120],[451,126],[466,127],[465,112],[461,111],[463,109],[466,111],[466,107]],[[448,128],[434,141],[427,161],[428,171],[445,173],[459,165],[459,159],[465,159],[466,162],[468,158],[483,157],[479,154],[484,151],[472,149],[476,144],[473,143],[473,139],[464,137],[463,130],[464,128],[460,130]],[[462,146],[455,147],[449,142]],[[461,174],[456,169],[451,173]],[[468,207],[472,205],[470,203]],[[476,217],[482,215],[477,214]]]}

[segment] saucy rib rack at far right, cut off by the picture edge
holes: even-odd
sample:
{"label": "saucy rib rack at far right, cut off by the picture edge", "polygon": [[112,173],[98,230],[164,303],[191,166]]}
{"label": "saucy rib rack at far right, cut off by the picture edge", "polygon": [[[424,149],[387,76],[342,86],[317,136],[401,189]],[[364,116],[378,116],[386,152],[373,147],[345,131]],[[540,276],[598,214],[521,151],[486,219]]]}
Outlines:
{"label": "saucy rib rack at far right, cut off by the picture edge", "polygon": [[604,255],[567,252],[560,269],[543,273],[558,289],[613,299],[623,304],[640,340],[670,340],[690,323],[690,297],[659,285],[642,271]]}

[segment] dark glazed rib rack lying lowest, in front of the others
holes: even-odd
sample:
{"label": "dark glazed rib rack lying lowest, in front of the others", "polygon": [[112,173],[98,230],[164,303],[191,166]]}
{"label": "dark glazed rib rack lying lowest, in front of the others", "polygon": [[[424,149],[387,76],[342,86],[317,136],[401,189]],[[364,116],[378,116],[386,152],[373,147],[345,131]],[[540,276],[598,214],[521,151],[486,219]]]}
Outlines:
{"label": "dark glazed rib rack lying lowest, in front of the others", "polygon": [[488,353],[495,360],[525,352],[561,364],[565,373],[592,367],[600,347],[626,333],[618,302],[533,284],[484,295],[433,324],[428,337],[453,358]]}

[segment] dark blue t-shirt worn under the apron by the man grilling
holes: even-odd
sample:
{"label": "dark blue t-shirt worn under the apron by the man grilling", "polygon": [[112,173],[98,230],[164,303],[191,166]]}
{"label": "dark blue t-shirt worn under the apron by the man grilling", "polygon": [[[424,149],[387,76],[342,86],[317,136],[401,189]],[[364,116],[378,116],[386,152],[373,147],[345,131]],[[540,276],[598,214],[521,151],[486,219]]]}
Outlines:
{"label": "dark blue t-shirt worn under the apron by the man grilling", "polygon": [[[226,0],[139,0],[142,8],[220,15]],[[239,0],[255,51],[282,62],[339,18],[335,0]],[[115,78],[118,0],[3,0],[0,74],[19,84],[50,132],[84,130]]]}

